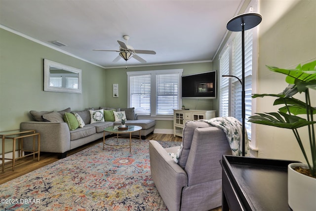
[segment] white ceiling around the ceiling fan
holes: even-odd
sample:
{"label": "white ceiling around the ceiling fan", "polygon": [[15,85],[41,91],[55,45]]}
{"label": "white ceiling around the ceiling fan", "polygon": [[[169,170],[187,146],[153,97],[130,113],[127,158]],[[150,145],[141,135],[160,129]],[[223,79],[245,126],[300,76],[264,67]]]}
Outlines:
{"label": "white ceiling around the ceiling fan", "polygon": [[[113,60],[117,40],[129,35],[146,65],[211,61],[243,0],[0,0],[0,24],[102,67]],[[56,47],[55,45],[53,45]],[[49,59],[49,58],[47,58]],[[143,65],[131,58],[128,66]]]}

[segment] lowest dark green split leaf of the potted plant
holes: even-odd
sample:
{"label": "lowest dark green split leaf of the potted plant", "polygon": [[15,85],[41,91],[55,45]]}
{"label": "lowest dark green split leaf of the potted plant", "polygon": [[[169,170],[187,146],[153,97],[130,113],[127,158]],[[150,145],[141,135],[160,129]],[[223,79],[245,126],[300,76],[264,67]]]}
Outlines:
{"label": "lowest dark green split leaf of the potted plant", "polygon": [[287,115],[282,112],[265,114],[257,113],[257,115],[249,117],[249,122],[287,129],[295,129],[316,123],[315,121],[307,121],[303,118]]}

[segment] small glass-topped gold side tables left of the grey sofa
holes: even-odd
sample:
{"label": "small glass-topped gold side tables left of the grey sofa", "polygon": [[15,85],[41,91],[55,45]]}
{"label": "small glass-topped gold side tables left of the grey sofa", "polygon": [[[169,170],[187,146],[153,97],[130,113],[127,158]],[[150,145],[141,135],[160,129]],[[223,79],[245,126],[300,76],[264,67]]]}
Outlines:
{"label": "small glass-topped gold side tables left of the grey sofa", "polygon": [[[33,137],[24,139],[26,137]],[[37,138],[36,138],[37,137]],[[2,171],[4,171],[4,160],[12,160],[12,170],[14,170],[15,161],[20,158],[24,158],[26,156],[33,155],[33,159],[35,160],[35,154],[38,154],[38,161],[40,161],[40,133],[36,133],[35,130],[9,130],[9,131],[2,131],[0,132],[0,138],[2,140]],[[13,147],[12,147],[12,158],[5,158],[5,139],[13,140]],[[35,142],[36,139],[38,140],[38,149],[35,149]],[[16,140],[18,140],[18,157],[15,158],[15,151],[16,151]],[[24,150],[23,149],[23,141],[31,141],[33,140],[33,150]],[[31,152],[27,155],[23,155],[23,152]]]}

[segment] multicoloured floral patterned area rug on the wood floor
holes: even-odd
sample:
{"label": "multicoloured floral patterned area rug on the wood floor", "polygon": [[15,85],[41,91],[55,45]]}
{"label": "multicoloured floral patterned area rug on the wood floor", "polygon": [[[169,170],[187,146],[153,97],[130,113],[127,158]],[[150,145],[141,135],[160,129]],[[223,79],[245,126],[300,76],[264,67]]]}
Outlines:
{"label": "multicoloured floral patterned area rug on the wood floor", "polygon": [[96,144],[1,184],[0,210],[167,211],[151,178],[148,140],[132,145],[131,153],[129,147],[102,148]]}

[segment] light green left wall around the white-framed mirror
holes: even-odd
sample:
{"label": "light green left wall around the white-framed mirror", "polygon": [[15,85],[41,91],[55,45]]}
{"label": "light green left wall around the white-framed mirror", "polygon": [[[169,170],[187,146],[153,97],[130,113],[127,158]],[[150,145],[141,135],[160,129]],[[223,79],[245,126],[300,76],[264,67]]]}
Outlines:
{"label": "light green left wall around the white-framed mirror", "polygon": [[[43,59],[82,70],[82,94],[43,91]],[[20,128],[30,110],[105,105],[105,69],[0,29],[0,131]],[[1,146],[0,146],[1,149]]]}

